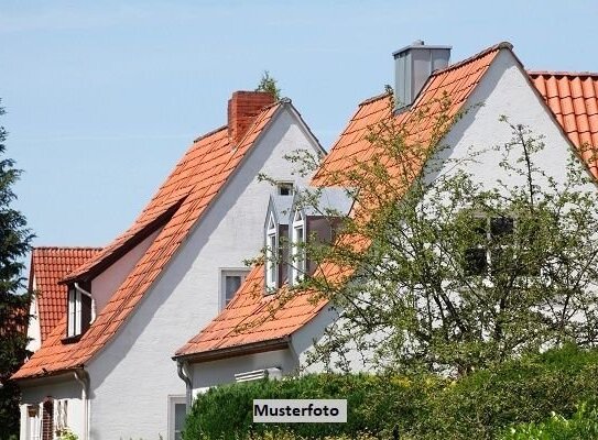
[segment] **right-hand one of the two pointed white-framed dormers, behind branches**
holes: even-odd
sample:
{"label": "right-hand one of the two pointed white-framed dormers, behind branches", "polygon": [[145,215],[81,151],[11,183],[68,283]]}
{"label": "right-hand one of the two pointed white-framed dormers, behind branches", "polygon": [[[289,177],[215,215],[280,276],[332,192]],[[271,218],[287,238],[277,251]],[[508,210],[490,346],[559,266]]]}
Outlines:
{"label": "right-hand one of the two pointed white-framed dormers, behind branches", "polygon": [[304,274],[313,274],[306,242],[331,243],[351,208],[352,198],[344,188],[305,188],[293,196],[289,215],[289,282],[295,285]]}

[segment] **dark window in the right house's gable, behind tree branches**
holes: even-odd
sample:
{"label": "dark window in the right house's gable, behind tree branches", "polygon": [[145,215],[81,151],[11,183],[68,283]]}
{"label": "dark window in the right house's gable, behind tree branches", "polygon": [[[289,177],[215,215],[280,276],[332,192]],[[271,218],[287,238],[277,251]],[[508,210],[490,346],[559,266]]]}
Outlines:
{"label": "dark window in the right house's gable, behind tree branches", "polygon": [[510,217],[478,218],[474,222],[478,245],[465,253],[465,273],[486,275],[488,268],[497,270],[514,255],[509,251],[509,242],[514,232],[514,220]]}

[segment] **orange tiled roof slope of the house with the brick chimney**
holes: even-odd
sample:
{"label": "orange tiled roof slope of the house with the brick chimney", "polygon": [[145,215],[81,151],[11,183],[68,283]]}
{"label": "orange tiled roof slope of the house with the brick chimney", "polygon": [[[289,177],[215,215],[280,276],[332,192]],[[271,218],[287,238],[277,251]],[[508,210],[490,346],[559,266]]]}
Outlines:
{"label": "orange tiled roof slope of the house with the brick chimney", "polygon": [[[112,295],[89,330],[79,342],[63,344],[66,317],[63,318],[62,331],[61,328],[55,329],[47,343],[13,375],[13,378],[41,376],[79,367],[106,345],[168,264],[227,179],[251,151],[258,136],[284,105],[280,102],[265,107],[238,145],[231,144],[226,127],[193,143],[133,226],[96,258],[69,276],[73,278],[83,275],[95,265],[101,264],[101,261],[111,253],[121,252],[120,246],[135,240],[138,234],[146,233],[148,226],[155,222],[156,218],[163,217],[164,226],[156,239]],[[172,213],[165,216],[166,211]]]}

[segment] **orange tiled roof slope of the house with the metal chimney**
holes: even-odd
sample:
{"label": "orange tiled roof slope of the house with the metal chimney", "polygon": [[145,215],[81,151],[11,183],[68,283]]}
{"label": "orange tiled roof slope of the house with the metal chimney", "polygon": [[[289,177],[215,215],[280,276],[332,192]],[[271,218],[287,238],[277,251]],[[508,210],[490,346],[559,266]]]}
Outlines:
{"label": "orange tiled roof slope of the house with the metal chimney", "polygon": [[[396,116],[395,123],[404,124],[413,140],[425,143],[425,138],[432,135],[431,121],[439,111],[445,111],[450,117],[456,116],[499,51],[511,47],[509,43],[501,43],[434,73],[411,110]],[[441,110],[437,101],[443,96],[450,97],[450,101],[447,109]],[[428,109],[426,117],[422,119],[417,117],[417,111],[424,107]],[[368,160],[371,154],[371,143],[368,140],[371,128],[389,120],[391,114],[388,94],[363,101],[325,158],[313,184],[316,186],[343,184],[336,180],[335,172],[346,172],[356,162]],[[325,264],[322,271],[327,279],[337,282],[350,276],[350,270],[331,264]],[[175,356],[193,356],[199,361],[211,359],[208,353],[287,338],[315,318],[326,305],[325,300],[314,304],[311,300],[311,293],[292,295],[289,293],[286,286],[283,286],[276,295],[264,296],[263,267],[255,267],[226,309],[182,346]]]}

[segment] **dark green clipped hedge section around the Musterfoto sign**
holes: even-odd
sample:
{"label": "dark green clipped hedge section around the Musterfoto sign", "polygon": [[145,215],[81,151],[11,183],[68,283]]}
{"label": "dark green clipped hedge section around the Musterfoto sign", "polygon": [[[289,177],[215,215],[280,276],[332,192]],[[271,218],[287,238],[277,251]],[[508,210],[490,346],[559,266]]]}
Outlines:
{"label": "dark green clipped hedge section around the Musterfoto sign", "polygon": [[[423,398],[439,387],[441,382],[423,377],[322,374],[226,385],[197,397],[183,438],[268,438],[267,431],[314,439],[359,432],[388,437],[394,429],[406,430],[415,421]],[[254,398],[346,398],[347,424],[253,424]]]}

